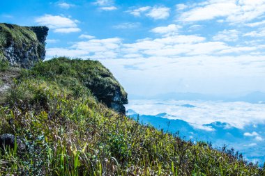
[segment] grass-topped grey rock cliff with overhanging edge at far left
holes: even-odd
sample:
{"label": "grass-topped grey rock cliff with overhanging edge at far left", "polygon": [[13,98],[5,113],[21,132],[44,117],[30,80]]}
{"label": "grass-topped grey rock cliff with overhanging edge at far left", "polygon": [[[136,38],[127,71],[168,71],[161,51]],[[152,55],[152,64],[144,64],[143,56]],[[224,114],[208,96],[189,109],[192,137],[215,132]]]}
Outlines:
{"label": "grass-topped grey rock cliff with overhanging edge at far left", "polygon": [[22,27],[0,23],[0,60],[29,68],[45,58],[45,26]]}

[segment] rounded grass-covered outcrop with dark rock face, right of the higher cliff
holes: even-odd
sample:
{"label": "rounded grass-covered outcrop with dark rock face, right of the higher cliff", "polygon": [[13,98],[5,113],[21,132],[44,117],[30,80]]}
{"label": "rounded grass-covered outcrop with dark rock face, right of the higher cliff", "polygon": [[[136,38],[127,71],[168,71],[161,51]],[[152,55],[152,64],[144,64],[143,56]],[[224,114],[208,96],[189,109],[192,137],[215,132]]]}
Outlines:
{"label": "rounded grass-covered outcrop with dark rock face, right of the higher cliff", "polygon": [[[50,61],[38,63],[31,69],[34,77],[45,77],[54,80],[61,86],[82,93],[86,87],[99,102],[119,113],[125,114],[123,104],[128,104],[127,93],[114,78],[113,74],[99,61],[53,58]],[[88,91],[85,91],[86,93]]]}

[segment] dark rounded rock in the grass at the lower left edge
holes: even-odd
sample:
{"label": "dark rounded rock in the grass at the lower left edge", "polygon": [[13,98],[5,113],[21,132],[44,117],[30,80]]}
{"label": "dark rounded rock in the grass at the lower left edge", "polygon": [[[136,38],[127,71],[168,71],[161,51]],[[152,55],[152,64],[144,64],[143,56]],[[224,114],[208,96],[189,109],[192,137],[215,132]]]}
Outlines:
{"label": "dark rounded rock in the grass at the lower left edge", "polygon": [[[15,136],[13,134],[2,134],[0,136],[0,148],[6,148],[6,147],[10,147],[10,148],[14,148],[15,146]],[[26,145],[24,144],[24,142],[20,139],[20,138],[16,138],[17,140],[17,152],[23,152],[24,150],[26,150]]]}

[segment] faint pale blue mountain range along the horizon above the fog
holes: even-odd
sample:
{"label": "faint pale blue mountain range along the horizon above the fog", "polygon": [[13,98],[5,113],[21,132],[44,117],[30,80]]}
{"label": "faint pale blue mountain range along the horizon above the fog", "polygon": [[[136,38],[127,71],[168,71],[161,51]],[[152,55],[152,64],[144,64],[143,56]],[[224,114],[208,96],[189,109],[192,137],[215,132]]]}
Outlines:
{"label": "faint pale blue mountain range along the horizon above the fog", "polygon": [[241,96],[233,95],[207,95],[201,93],[165,93],[153,96],[130,95],[129,99],[160,99],[160,100],[202,100],[202,101],[223,101],[223,102],[249,102],[265,104],[265,93],[256,91]]}

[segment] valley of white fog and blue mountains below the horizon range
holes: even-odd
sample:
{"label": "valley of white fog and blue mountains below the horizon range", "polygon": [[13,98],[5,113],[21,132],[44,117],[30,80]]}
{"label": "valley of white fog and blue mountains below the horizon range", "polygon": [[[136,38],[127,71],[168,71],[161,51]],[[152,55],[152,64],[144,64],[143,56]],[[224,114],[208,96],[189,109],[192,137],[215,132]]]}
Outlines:
{"label": "valley of white fog and blue mountains below the horizon range", "polygon": [[265,104],[248,102],[130,100],[128,115],[186,140],[227,145],[247,161],[265,162]]}

